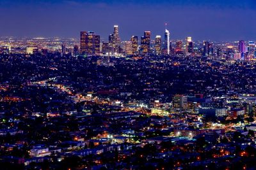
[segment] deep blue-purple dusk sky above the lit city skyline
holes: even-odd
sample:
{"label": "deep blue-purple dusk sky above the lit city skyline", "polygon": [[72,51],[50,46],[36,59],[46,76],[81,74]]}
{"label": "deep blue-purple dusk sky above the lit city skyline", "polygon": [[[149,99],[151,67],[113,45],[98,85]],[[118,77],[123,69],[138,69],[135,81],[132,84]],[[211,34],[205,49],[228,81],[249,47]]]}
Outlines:
{"label": "deep blue-purple dusk sky above the lit city skyline", "polygon": [[171,39],[256,40],[256,0],[0,0],[0,36],[78,38],[94,31],[102,39],[120,27],[122,40],[152,31]]}

